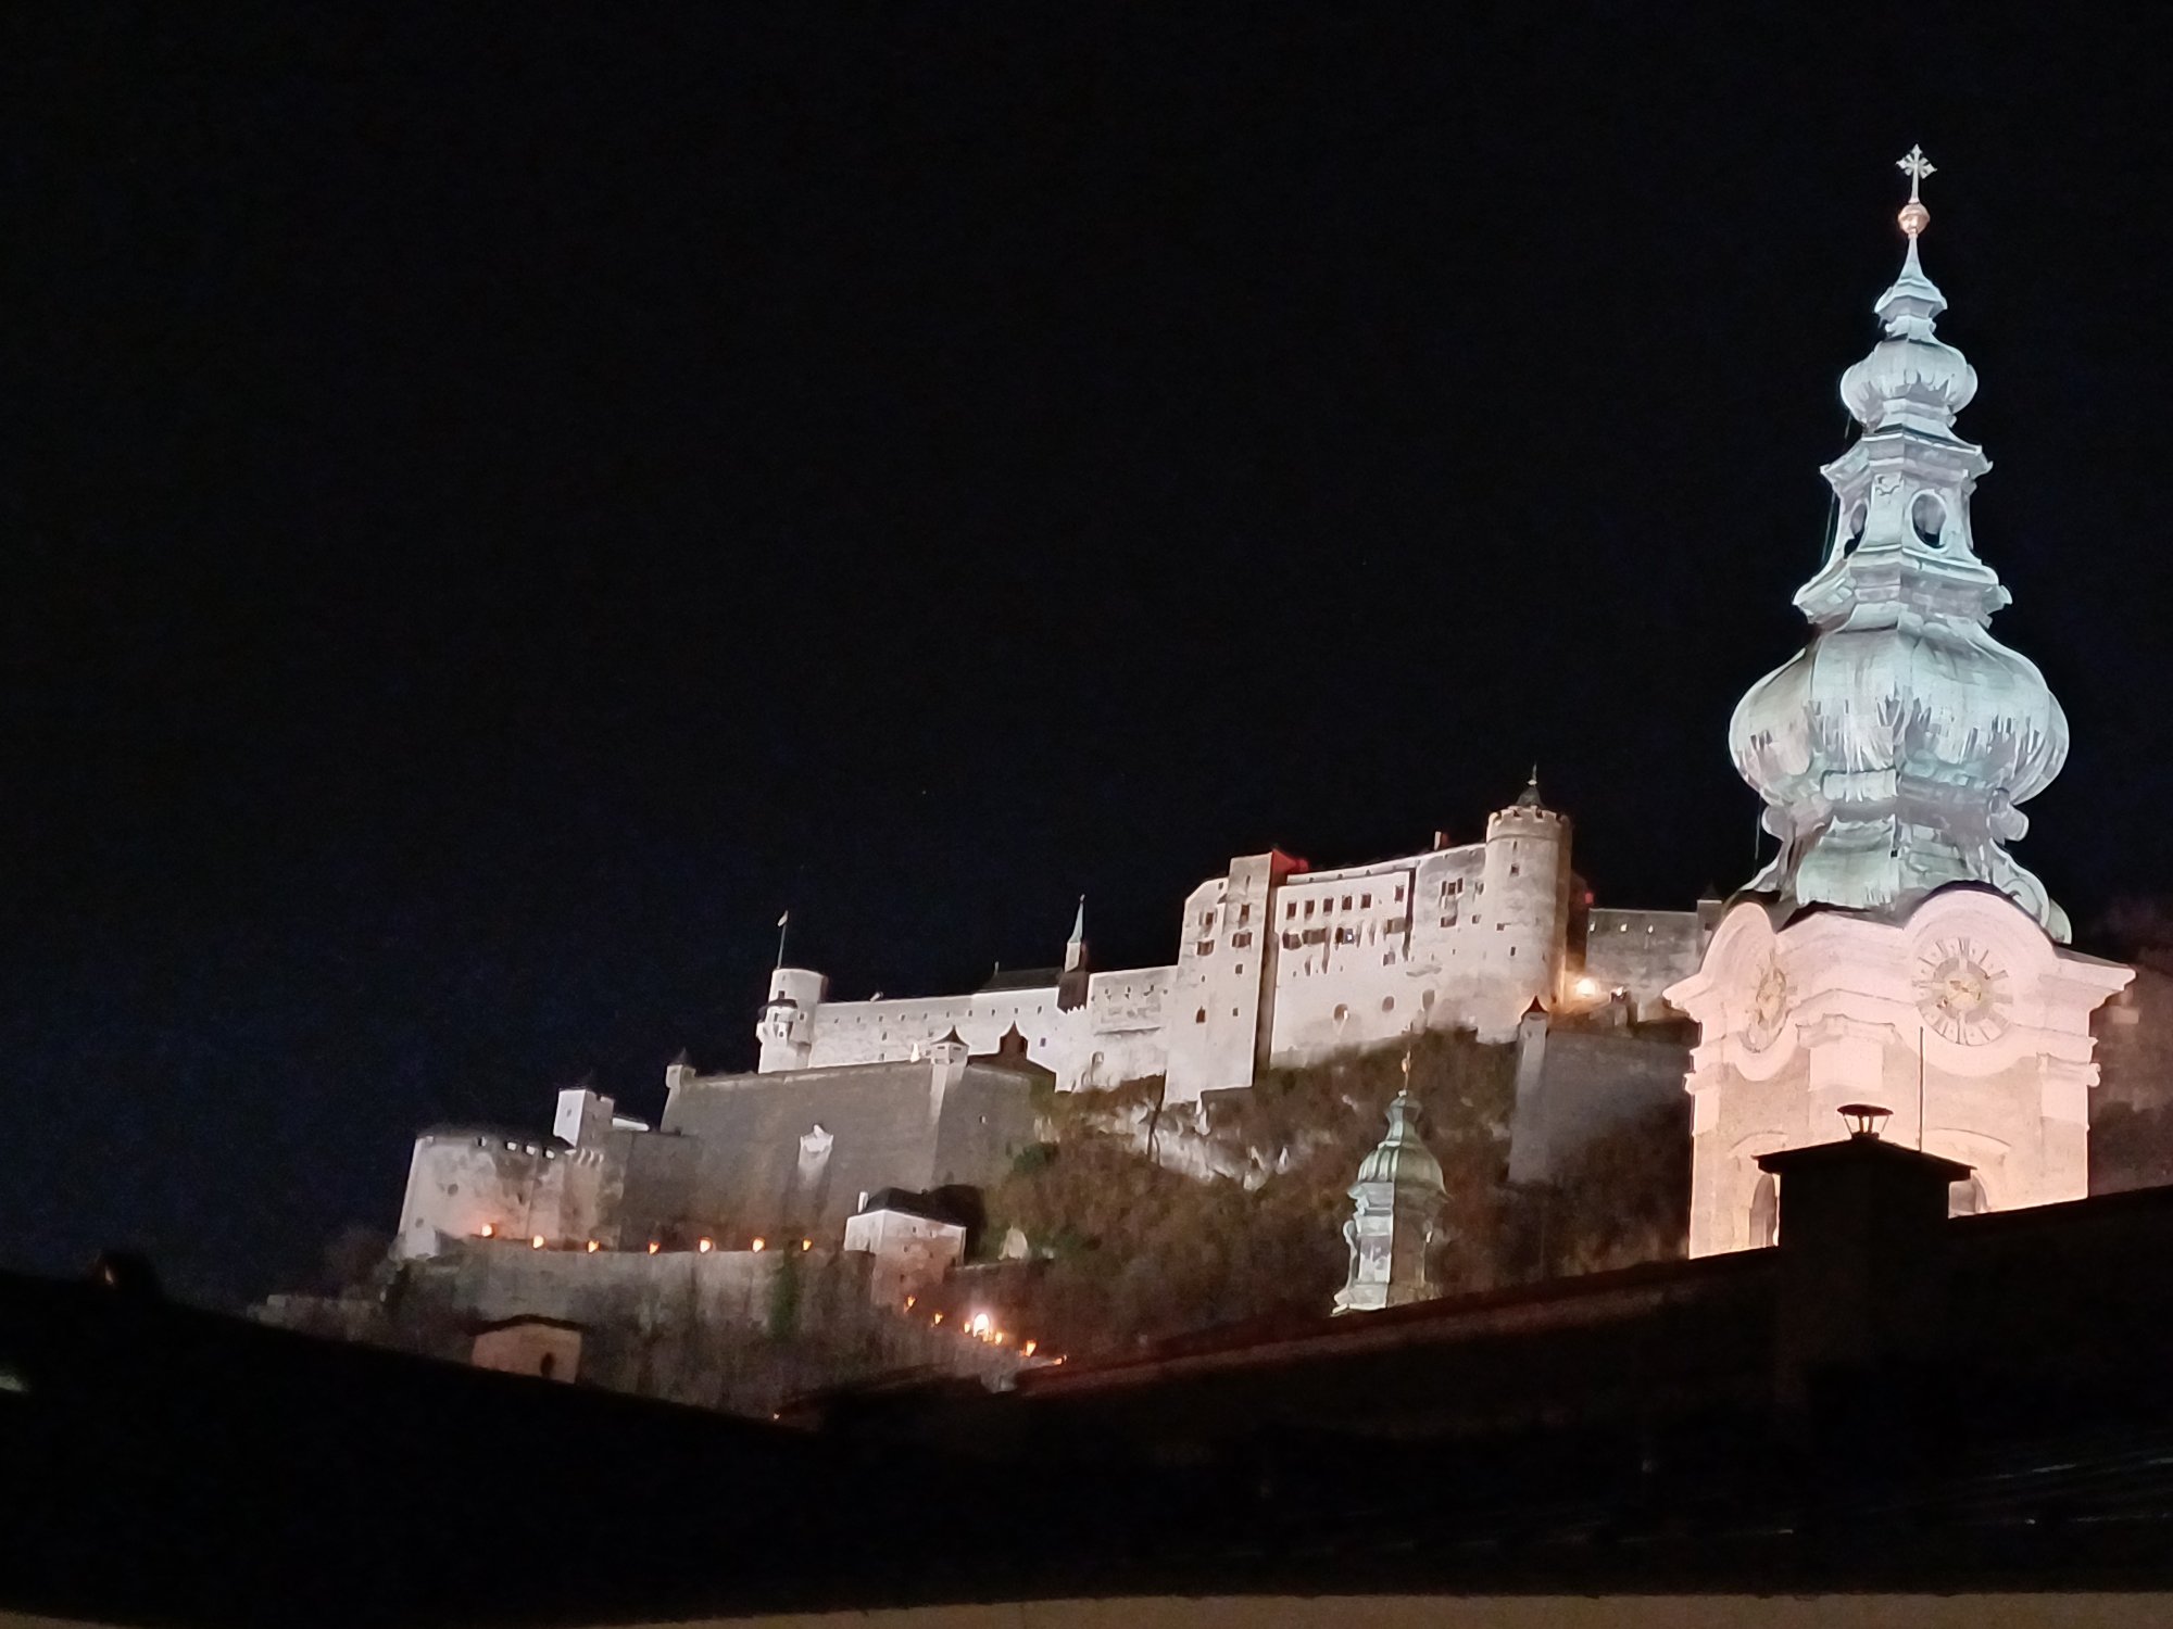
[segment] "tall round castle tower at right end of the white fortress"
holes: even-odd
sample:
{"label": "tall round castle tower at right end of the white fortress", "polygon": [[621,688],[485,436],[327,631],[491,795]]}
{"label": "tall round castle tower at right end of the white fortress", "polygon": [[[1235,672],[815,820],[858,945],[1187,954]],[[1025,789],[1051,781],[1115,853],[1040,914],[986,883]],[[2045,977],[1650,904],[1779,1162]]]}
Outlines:
{"label": "tall round castle tower at right end of the white fortress", "polygon": [[1506,1040],[1532,1001],[1554,1008],[1569,954],[1569,817],[1541,801],[1536,767],[1486,821],[1475,914],[1489,986],[1480,1038]]}

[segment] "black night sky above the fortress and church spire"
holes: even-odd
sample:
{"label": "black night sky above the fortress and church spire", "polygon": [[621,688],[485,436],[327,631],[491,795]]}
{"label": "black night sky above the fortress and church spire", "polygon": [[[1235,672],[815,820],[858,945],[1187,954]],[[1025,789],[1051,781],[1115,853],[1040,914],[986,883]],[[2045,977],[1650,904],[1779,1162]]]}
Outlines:
{"label": "black night sky above the fortress and church spire", "polygon": [[1912,141],[2019,854],[2173,886],[2164,54],[2006,11],[13,9],[0,1260],[306,1281],[428,1121],[750,1066],[787,906],[1167,960],[1534,758],[1741,884]]}

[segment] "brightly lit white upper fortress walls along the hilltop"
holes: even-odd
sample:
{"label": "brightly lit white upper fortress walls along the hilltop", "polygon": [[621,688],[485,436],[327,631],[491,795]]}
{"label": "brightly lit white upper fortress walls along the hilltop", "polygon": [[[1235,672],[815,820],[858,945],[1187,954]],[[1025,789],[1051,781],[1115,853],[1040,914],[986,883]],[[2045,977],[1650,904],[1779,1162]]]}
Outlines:
{"label": "brightly lit white upper fortress walls along the hilltop", "polygon": [[[1425,1027],[1506,1040],[1538,1001],[1571,997],[1571,823],[1519,801],[1480,843],[1312,871],[1254,854],[1184,901],[1173,967],[1095,973],[1086,1003],[1058,986],[891,1001],[830,1001],[806,969],[778,969],[758,1034],[761,1069],[900,1062],[956,1030],[991,1053],[1013,1027],[1063,1090],[1167,1075],[1167,1099],[1252,1084],[1267,1064],[1393,1043]],[[1710,932],[1695,912],[1634,912],[1643,940],[1597,947],[1599,986],[1623,986],[1641,1016],[1695,971]],[[1606,923],[1621,923],[1612,917]],[[1573,1003],[1573,1001],[1571,1001]]]}

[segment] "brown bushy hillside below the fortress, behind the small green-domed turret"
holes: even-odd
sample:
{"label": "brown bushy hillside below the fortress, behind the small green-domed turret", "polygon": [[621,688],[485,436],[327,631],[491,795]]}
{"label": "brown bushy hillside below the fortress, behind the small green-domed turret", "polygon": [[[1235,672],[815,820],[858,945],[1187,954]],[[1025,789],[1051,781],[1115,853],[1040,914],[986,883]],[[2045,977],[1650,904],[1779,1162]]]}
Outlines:
{"label": "brown bushy hillside below the fortress, behind the small green-domed turret", "polygon": [[[1017,1229],[1032,1260],[969,1271],[945,1299],[958,1312],[993,1305],[1010,1329],[1078,1355],[1326,1312],[1347,1268],[1347,1190],[1402,1084],[1402,1049],[1265,1071],[1249,1093],[1213,1106],[1204,1134],[1189,1108],[1156,1110],[1154,1079],[1052,1095],[1052,1140],[1021,1153],[989,1195],[987,1249]],[[1512,1047],[1482,1047],[1469,1034],[1412,1045],[1419,1129],[1449,1190],[1432,1255],[1441,1290],[1680,1253],[1682,1116],[1593,1145],[1575,1184],[1556,1195],[1515,1195],[1504,1184],[1512,1084]],[[1249,1175],[1169,1169],[1199,1162]]]}

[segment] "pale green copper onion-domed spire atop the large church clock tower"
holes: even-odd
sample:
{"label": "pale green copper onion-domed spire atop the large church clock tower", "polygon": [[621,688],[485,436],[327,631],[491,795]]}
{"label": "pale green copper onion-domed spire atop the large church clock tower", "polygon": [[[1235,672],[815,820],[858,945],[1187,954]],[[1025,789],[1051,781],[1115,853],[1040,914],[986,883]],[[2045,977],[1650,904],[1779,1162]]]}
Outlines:
{"label": "pale green copper onion-domed spire atop the large church clock tower", "polygon": [[1986,630],[2008,604],[1969,523],[1990,460],[1954,432],[1977,374],[1934,332],[1947,298],[1917,250],[1932,165],[1912,150],[1901,169],[1908,252],[1875,306],[1884,337],[1841,380],[1862,434],[1823,471],[1838,523],[1795,597],[1812,639],[1728,728],[1782,845],[1751,888],[1880,910],[1984,882],[2064,940],[2067,912],[2004,845],[2027,830],[2017,804],[2067,760],[2067,717],[2043,673]]}

